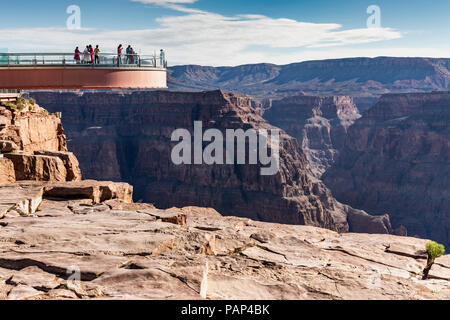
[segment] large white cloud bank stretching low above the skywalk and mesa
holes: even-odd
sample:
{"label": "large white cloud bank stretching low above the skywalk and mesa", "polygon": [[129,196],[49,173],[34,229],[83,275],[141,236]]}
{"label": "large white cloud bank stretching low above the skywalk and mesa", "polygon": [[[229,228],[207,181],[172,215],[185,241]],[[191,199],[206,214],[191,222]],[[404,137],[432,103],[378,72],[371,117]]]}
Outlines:
{"label": "large white cloud bank stretching low above the skywalk and mesa", "polygon": [[[165,48],[169,62],[176,64],[236,65],[299,61],[310,56],[309,52],[332,57],[336,51],[331,47],[347,48],[402,36],[390,28],[343,30],[335,23],[306,23],[263,15],[224,16],[181,5],[195,0],[132,1],[162,5],[185,14],[160,17],[156,20],[158,27],[143,30],[0,29],[0,47],[72,51],[77,45],[91,43],[113,51],[118,43],[131,43],[147,53]],[[274,57],[271,51],[282,53]]]}

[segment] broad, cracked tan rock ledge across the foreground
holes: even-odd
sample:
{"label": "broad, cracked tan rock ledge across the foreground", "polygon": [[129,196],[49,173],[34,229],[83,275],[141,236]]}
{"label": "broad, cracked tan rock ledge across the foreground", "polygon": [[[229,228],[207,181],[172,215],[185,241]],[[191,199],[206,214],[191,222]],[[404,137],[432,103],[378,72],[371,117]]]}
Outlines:
{"label": "broad, cracked tan rock ledge across the foreground", "polygon": [[0,299],[450,299],[450,255],[419,280],[425,240],[158,210],[99,184],[109,197],[47,185],[34,213],[5,214]]}

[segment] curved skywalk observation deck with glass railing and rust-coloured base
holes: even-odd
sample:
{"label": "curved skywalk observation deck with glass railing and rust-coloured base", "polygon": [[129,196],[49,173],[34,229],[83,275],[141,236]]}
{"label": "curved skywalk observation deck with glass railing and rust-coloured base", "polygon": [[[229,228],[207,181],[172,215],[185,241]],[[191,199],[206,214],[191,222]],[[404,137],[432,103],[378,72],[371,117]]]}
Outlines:
{"label": "curved skywalk observation deck with glass railing and rust-coloured base", "polygon": [[167,88],[167,61],[159,55],[101,54],[98,63],[73,53],[0,53],[0,89]]}

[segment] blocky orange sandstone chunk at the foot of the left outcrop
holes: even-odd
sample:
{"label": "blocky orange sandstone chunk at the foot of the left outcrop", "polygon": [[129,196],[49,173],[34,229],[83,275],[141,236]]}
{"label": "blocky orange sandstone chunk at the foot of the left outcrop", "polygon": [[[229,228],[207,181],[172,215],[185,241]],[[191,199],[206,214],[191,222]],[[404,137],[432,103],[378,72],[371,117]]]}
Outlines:
{"label": "blocky orange sandstone chunk at the foot of the left outcrop", "polygon": [[16,180],[66,181],[67,170],[58,157],[5,154],[14,164]]}

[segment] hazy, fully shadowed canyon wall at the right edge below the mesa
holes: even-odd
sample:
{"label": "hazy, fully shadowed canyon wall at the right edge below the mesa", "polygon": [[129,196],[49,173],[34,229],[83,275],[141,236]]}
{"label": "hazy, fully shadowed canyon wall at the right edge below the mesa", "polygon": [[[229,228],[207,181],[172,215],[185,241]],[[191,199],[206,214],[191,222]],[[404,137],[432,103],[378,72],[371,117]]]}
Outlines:
{"label": "hazy, fully shadowed canyon wall at the right edge below the mesa", "polygon": [[385,95],[350,127],[324,181],[340,201],[450,244],[449,125],[449,92]]}

